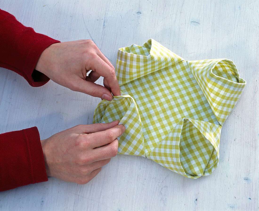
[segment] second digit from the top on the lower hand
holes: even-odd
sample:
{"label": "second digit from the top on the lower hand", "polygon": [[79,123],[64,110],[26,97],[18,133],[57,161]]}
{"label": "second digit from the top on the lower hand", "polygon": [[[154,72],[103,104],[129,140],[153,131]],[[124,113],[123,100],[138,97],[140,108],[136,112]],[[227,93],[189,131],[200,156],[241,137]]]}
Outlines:
{"label": "second digit from the top on the lower hand", "polygon": [[110,129],[105,131],[91,133],[92,144],[90,145],[92,148],[100,147],[106,144],[111,143],[113,140],[121,136],[125,132],[124,125],[116,125]]}

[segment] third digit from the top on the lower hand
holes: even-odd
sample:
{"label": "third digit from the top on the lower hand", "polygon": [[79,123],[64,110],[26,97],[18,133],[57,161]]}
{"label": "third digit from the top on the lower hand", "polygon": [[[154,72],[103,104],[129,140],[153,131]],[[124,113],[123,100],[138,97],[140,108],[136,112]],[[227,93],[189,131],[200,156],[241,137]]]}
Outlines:
{"label": "third digit from the top on the lower hand", "polygon": [[118,153],[118,139],[115,139],[110,144],[104,145],[102,147],[96,148],[92,151],[93,161],[100,161],[115,157]]}

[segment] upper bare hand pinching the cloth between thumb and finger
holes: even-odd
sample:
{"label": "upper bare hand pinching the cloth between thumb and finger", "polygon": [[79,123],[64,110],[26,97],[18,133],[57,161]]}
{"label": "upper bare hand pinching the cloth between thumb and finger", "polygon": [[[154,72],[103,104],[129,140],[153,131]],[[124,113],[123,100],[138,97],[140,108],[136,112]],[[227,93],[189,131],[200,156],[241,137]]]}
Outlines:
{"label": "upper bare hand pinching the cloth between thumb and finger", "polygon": [[[102,100],[120,95],[114,67],[91,40],[52,44],[42,52],[35,69],[59,85]],[[100,76],[104,86],[94,83]]]}

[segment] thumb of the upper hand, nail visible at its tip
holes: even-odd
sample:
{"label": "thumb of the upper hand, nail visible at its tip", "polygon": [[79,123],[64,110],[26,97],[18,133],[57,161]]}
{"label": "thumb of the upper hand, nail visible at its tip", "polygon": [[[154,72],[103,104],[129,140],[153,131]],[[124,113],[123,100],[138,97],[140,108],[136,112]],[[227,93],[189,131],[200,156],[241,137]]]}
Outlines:
{"label": "thumb of the upper hand, nail visible at its tip", "polygon": [[90,81],[86,81],[82,78],[78,78],[74,83],[73,87],[70,88],[73,91],[82,92],[89,94],[93,97],[100,97],[102,100],[112,100],[111,92],[104,86],[95,84]]}

